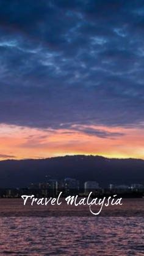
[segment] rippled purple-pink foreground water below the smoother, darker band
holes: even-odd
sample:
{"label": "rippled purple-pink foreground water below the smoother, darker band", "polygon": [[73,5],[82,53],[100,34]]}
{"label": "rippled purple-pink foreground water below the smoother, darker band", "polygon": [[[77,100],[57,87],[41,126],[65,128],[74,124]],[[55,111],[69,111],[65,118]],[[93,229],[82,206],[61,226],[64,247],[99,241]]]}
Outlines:
{"label": "rippled purple-pink foreground water below the smoother, darker band", "polygon": [[1,217],[0,255],[144,255],[143,217]]}

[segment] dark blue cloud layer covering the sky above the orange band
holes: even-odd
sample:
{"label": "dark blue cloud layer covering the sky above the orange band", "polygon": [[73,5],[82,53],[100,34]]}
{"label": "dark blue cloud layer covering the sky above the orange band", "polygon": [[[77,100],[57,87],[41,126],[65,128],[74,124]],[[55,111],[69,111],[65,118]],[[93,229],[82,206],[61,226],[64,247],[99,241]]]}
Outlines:
{"label": "dark blue cloud layer covering the sky above the orange band", "polygon": [[143,125],[143,1],[0,7],[1,123]]}

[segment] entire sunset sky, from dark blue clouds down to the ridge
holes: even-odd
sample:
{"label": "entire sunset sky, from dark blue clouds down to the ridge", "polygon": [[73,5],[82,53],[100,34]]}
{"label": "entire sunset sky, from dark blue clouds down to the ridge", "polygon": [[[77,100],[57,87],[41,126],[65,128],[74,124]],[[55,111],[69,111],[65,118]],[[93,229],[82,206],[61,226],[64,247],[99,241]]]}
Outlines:
{"label": "entire sunset sky, from dark blue clouds down to the ridge", "polygon": [[144,159],[143,0],[0,0],[0,160]]}

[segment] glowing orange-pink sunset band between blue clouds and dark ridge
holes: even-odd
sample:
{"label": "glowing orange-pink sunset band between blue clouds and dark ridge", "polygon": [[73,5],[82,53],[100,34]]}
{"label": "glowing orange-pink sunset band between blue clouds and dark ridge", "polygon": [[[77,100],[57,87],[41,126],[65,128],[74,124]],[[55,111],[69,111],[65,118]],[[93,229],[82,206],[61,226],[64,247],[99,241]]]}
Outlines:
{"label": "glowing orange-pink sunset band between blue clouds and dark ridge", "polygon": [[73,129],[34,129],[28,127],[0,126],[0,159],[26,159],[93,154],[118,158],[144,159],[144,134],[142,129],[89,126],[111,133],[115,137],[101,138]]}

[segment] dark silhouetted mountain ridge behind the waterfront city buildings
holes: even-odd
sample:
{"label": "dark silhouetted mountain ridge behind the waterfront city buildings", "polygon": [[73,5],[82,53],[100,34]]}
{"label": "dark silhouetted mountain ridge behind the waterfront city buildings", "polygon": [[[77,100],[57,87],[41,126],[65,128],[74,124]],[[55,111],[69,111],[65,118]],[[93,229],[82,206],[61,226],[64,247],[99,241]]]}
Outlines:
{"label": "dark silhouetted mountain ridge behind the waterfront city buildings", "polygon": [[144,160],[77,155],[0,161],[0,187],[24,187],[65,177],[76,178],[81,183],[98,181],[101,186],[144,183]]}

